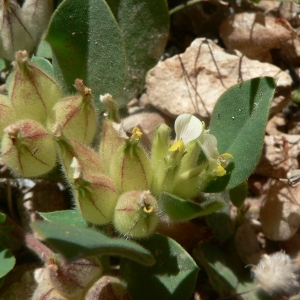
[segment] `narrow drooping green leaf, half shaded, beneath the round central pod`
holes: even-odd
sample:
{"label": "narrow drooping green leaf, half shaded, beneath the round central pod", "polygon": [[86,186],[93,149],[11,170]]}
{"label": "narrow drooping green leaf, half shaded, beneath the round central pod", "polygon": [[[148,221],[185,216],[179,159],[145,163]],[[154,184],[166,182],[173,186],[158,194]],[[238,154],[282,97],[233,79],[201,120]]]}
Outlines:
{"label": "narrow drooping green leaf, half shaded, beneath the round central pod", "polygon": [[155,262],[153,256],[137,243],[108,237],[91,228],[43,221],[31,226],[69,262],[92,255],[119,255],[145,265]]}

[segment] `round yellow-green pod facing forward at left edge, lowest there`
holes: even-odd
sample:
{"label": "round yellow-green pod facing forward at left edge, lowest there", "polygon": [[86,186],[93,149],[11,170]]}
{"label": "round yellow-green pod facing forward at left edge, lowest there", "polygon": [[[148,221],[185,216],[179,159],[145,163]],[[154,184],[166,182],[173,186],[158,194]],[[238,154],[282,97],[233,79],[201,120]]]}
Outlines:
{"label": "round yellow-green pod facing forward at left edge, lowest there", "polygon": [[4,162],[16,175],[40,176],[56,165],[52,136],[33,120],[21,120],[7,126],[1,149]]}

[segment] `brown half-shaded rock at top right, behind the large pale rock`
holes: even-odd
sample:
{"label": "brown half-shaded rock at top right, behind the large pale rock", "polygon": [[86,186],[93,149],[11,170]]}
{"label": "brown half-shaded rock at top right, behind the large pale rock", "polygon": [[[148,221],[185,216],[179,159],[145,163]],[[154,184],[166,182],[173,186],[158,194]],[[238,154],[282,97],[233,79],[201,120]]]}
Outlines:
{"label": "brown half-shaded rock at top right, behind the large pale rock", "polygon": [[228,49],[239,50],[247,57],[259,60],[268,58],[269,50],[280,47],[293,32],[286,24],[261,12],[231,15],[219,31]]}

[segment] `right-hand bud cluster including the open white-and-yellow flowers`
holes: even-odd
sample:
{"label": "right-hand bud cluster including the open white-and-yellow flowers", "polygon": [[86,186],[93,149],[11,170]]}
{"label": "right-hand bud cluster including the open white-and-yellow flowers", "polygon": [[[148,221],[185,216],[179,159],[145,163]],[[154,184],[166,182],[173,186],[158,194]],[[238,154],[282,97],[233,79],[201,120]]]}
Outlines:
{"label": "right-hand bud cluster including the open white-and-yellow flowers", "polygon": [[[139,128],[130,135],[125,132],[113,98],[106,94],[100,100],[107,112],[98,159],[93,150],[80,150],[82,154],[71,163],[69,179],[77,207],[89,222],[112,223],[128,238],[148,237],[164,213],[161,193],[190,201],[212,180],[226,174],[232,156],[220,155],[216,138],[195,116],[183,114],[176,119],[173,142],[167,125],[157,128],[149,154],[140,143]],[[86,163],[88,155],[99,166],[98,172]]]}

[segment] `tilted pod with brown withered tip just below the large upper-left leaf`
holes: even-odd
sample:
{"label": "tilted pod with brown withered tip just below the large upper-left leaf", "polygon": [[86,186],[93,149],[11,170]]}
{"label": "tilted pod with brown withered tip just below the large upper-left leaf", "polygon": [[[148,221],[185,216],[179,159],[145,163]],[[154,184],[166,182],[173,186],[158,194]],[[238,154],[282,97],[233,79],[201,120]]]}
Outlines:
{"label": "tilted pod with brown withered tip just below the large upper-left leaf", "polygon": [[76,79],[75,86],[79,94],[64,98],[56,103],[50,114],[48,126],[53,128],[60,124],[63,134],[68,139],[76,139],[89,145],[97,128],[92,92],[83,85],[80,79]]}

